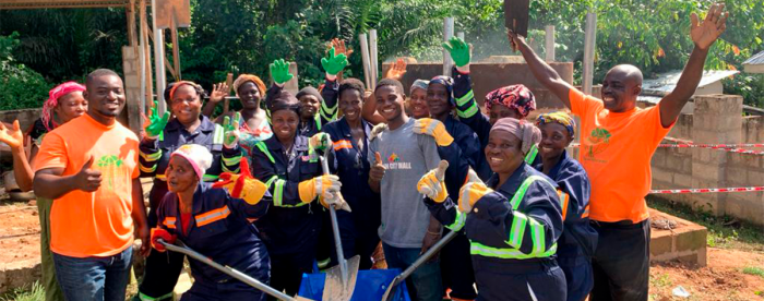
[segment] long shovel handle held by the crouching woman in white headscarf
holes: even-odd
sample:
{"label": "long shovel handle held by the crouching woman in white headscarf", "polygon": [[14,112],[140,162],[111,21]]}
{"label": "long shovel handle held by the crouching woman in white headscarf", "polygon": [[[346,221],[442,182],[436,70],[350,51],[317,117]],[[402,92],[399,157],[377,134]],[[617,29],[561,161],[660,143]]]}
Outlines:
{"label": "long shovel handle held by the crouching woman in white headscarf", "polygon": [[191,248],[188,248],[188,246],[187,246],[186,244],[183,244],[183,242],[180,241],[180,240],[177,240],[178,245],[169,244],[169,243],[167,243],[167,242],[166,242],[165,240],[163,240],[163,239],[159,239],[159,240],[157,240],[157,241],[158,241],[159,243],[162,243],[163,245],[165,245],[165,248],[167,248],[167,250],[170,250],[170,251],[172,251],[172,252],[178,252],[178,253],[181,253],[181,254],[186,254],[186,255],[188,255],[188,256],[191,257],[191,258],[194,258],[194,260],[196,260],[196,261],[199,261],[199,262],[201,262],[201,263],[204,263],[204,264],[206,264],[206,265],[208,265],[208,266],[212,266],[213,268],[215,268],[215,269],[217,269],[217,270],[219,270],[219,272],[223,272],[224,274],[226,274],[226,275],[228,275],[228,276],[230,276],[230,277],[234,277],[234,278],[238,279],[239,281],[242,281],[242,282],[244,282],[244,284],[247,284],[247,285],[249,285],[249,286],[251,286],[251,287],[253,287],[253,288],[256,288],[256,289],[259,289],[259,290],[261,290],[261,291],[263,291],[263,292],[265,292],[265,293],[267,293],[267,294],[270,294],[270,296],[272,296],[272,297],[274,297],[274,298],[276,298],[276,299],[278,299],[278,300],[284,300],[284,301],[312,301],[311,299],[302,298],[302,297],[299,297],[299,296],[296,296],[296,297],[294,297],[294,298],[293,298],[293,297],[289,297],[289,296],[287,296],[287,294],[285,294],[285,293],[283,293],[283,292],[280,292],[280,291],[277,291],[276,289],[274,289],[274,288],[272,288],[272,287],[270,287],[270,286],[267,286],[267,285],[265,285],[265,284],[259,281],[258,279],[254,279],[254,278],[250,277],[250,276],[247,275],[247,274],[243,274],[243,273],[241,273],[241,272],[239,272],[239,270],[237,270],[237,269],[234,269],[234,268],[231,268],[231,267],[229,267],[229,266],[223,266],[223,265],[220,265],[220,264],[218,264],[218,263],[216,263],[216,262],[213,262],[211,258],[207,258],[206,256],[204,256],[204,255],[198,253],[196,251],[191,250]]}

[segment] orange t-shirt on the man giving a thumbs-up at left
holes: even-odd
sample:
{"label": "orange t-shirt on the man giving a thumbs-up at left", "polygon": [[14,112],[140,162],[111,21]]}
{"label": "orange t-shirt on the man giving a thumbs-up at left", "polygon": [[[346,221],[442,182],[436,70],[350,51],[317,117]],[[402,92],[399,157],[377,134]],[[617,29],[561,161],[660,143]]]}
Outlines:
{"label": "orange t-shirt on the man giving a thumbs-up at left", "polygon": [[95,192],[71,191],[53,201],[50,250],[71,257],[111,256],[132,244],[132,180],[138,169],[138,136],[119,122],[106,127],[88,115],[48,133],[35,158],[35,169],[80,172],[93,156],[100,170]]}

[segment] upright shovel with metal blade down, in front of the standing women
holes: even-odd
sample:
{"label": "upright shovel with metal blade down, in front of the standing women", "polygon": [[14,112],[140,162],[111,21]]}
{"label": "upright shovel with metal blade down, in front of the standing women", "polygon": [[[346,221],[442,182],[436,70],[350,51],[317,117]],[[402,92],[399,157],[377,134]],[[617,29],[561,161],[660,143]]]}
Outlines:
{"label": "upright shovel with metal blade down, in front of the standing women", "polygon": [[[324,174],[330,174],[329,162],[329,146],[324,150],[323,156],[319,156],[321,168]],[[349,205],[345,203],[342,209],[350,210]],[[332,232],[334,233],[334,249],[337,252],[338,266],[326,269],[326,280],[324,281],[324,291],[321,300],[337,300],[349,301],[353,297],[353,291],[356,289],[356,279],[358,277],[358,265],[360,256],[353,256],[349,261],[345,260],[343,253],[343,242],[339,239],[339,225],[337,224],[337,212],[334,205],[329,206],[329,214],[332,219]]]}

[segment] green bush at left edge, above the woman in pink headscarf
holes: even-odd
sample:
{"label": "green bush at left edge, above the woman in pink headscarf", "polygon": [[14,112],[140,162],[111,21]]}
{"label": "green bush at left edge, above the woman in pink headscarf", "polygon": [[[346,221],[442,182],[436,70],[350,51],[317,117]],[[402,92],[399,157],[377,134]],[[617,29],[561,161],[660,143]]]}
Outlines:
{"label": "green bush at left edge, above the woman in pink headscarf", "polygon": [[14,61],[17,37],[17,33],[0,36],[0,110],[40,107],[50,89],[43,75]]}

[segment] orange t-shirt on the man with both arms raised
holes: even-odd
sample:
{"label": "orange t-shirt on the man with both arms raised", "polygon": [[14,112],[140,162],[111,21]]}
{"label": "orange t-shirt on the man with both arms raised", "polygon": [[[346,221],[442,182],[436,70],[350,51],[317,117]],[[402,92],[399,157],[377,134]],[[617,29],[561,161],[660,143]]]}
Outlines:
{"label": "orange t-shirt on the man with both arms raised", "polygon": [[[638,222],[649,217],[650,158],[671,127],[658,106],[610,112],[602,100],[571,88],[571,111],[581,118],[580,161],[592,182],[589,218]],[[672,124],[673,125],[673,124]]]}

